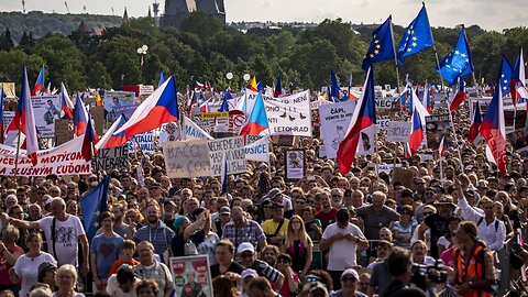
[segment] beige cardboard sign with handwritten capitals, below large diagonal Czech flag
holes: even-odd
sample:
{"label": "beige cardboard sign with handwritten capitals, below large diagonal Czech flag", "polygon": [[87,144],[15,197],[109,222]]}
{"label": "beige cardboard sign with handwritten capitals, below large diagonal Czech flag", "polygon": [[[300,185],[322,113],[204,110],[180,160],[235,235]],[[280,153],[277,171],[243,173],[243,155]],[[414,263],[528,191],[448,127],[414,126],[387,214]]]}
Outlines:
{"label": "beige cardboard sign with handwritten capitals, below large diagonal Czech flag", "polygon": [[167,141],[162,147],[169,178],[211,176],[206,140]]}

